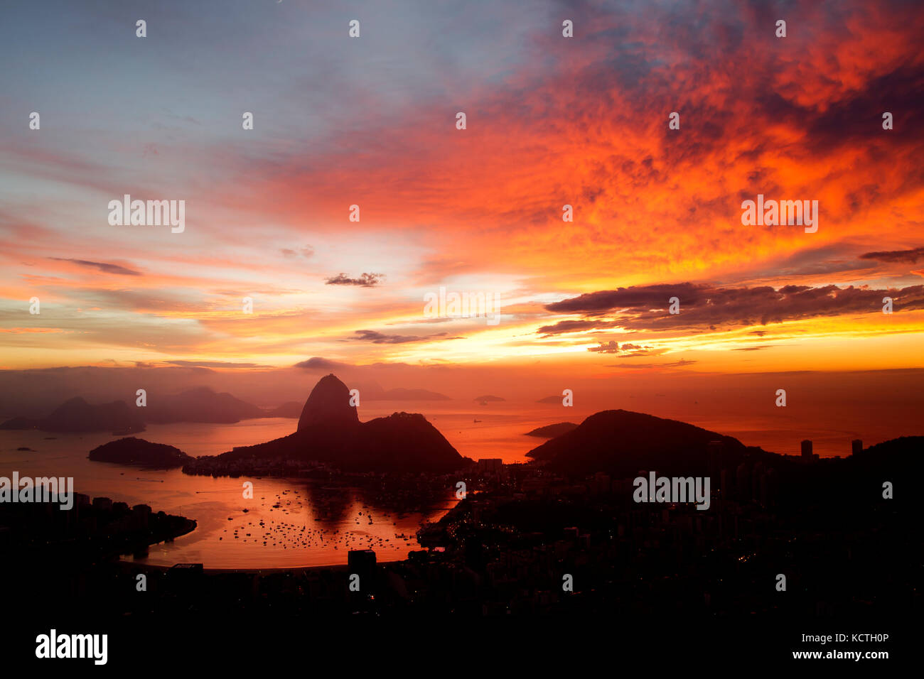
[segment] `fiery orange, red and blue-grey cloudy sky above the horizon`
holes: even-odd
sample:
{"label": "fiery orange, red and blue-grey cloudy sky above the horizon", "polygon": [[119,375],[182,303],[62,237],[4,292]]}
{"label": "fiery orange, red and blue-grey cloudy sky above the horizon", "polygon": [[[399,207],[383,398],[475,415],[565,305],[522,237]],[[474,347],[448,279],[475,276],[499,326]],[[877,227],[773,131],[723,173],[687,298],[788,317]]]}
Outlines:
{"label": "fiery orange, red and blue-grey cloudy sky above the horizon", "polygon": [[8,6],[0,369],[922,368],[924,6],[808,5]]}

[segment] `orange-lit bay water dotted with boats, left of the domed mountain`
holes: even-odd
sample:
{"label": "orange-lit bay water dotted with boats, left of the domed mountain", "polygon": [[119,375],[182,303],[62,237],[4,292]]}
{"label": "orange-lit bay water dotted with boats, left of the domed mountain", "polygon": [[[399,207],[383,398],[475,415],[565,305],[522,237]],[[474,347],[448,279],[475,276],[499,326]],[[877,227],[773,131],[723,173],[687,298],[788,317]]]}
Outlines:
{"label": "orange-lit bay water dotted with boats, left of the domed mountain", "polygon": [[[294,427],[295,420],[283,418],[233,425],[184,423],[154,425],[138,436],[176,445],[198,456],[221,453],[233,445],[269,441],[291,433]],[[0,475],[9,477],[17,470],[20,476],[33,478],[73,477],[75,490],[91,497],[109,497],[129,505],[149,504],[154,511],[197,521],[192,533],[152,545],[142,561],[158,565],[334,565],[346,564],[346,552],[351,549],[374,549],[379,561],[404,559],[407,552],[419,549],[415,533],[421,521],[438,520],[455,502],[453,489],[447,488],[445,502],[438,503],[438,508],[425,515],[398,515],[394,510],[372,506],[362,489],[308,479],[215,479],[188,476],[180,469],[147,470],[87,459],[92,448],[116,438],[107,433],[0,431]],[[18,451],[21,446],[34,452]],[[253,483],[252,500],[243,497],[247,480]]]}

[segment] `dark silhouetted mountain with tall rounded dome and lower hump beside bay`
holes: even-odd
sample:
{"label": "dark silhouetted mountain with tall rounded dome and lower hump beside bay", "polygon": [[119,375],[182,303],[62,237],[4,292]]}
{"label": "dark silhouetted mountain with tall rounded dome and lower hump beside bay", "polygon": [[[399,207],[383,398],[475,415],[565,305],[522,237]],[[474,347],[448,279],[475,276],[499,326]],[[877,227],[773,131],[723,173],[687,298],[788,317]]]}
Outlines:
{"label": "dark silhouetted mountain with tall rounded dome and lower hump beside bay", "polygon": [[349,389],[333,374],[311,390],[295,433],[241,446],[197,464],[221,467],[241,460],[318,460],[347,470],[449,472],[471,463],[422,415],[395,413],[360,422]]}

